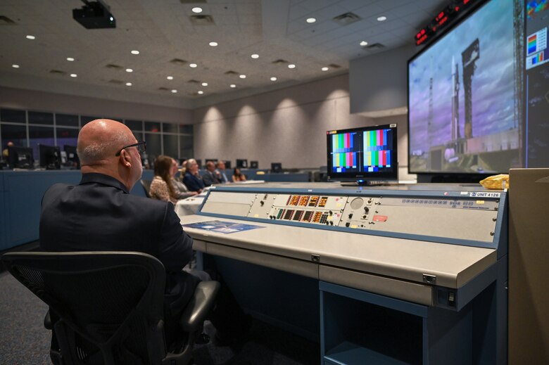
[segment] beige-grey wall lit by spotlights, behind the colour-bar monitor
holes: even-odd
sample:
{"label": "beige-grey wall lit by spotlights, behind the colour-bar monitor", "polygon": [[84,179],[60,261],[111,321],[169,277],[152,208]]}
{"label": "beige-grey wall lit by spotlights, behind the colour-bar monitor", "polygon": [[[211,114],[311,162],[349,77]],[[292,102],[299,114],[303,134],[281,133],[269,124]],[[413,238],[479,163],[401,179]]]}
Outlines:
{"label": "beige-grey wall lit by spotlights, behind the colour-bar monitor", "polygon": [[196,158],[258,160],[260,168],[327,164],[329,129],[398,124],[400,174],[408,169],[405,115],[371,118],[349,110],[348,75],[250,96],[194,110]]}

